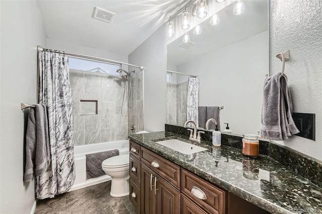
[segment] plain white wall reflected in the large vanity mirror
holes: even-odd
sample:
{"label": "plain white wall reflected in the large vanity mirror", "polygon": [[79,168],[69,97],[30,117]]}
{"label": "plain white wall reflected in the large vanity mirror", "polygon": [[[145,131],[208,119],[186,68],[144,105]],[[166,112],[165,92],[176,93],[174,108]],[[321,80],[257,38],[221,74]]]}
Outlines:
{"label": "plain white wall reflected in the large vanity mirror", "polygon": [[[269,72],[268,31],[177,66],[198,75],[199,106],[220,106],[220,127],[235,134],[257,134],[261,129],[263,82]],[[178,75],[178,81],[187,76]]]}

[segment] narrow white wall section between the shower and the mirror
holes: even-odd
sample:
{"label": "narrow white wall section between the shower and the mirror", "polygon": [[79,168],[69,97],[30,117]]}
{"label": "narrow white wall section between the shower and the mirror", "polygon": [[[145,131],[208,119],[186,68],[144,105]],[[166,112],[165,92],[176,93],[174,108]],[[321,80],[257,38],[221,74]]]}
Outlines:
{"label": "narrow white wall section between the shower and the mirror", "polygon": [[166,123],[166,24],[129,55],[129,63],[144,65],[144,130],[165,130]]}

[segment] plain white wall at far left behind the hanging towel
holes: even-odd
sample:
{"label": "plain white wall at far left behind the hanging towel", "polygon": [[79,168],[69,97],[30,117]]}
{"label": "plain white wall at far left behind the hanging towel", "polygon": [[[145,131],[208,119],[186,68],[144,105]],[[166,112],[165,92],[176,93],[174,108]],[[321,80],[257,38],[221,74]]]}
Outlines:
{"label": "plain white wall at far left behind the hanging towel", "polygon": [[[30,213],[34,180],[23,182],[25,116],[37,102],[37,45],[46,35],[35,1],[1,1],[1,213]],[[28,111],[28,110],[25,110]]]}

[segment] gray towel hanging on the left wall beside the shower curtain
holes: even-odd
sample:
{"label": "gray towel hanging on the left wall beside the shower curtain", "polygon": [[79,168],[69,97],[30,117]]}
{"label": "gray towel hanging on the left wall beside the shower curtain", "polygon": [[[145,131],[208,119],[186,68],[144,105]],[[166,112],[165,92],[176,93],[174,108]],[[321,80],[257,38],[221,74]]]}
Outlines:
{"label": "gray towel hanging on the left wall beside the shower curtain", "polygon": [[24,181],[46,172],[51,160],[46,106],[34,105],[28,116]]}

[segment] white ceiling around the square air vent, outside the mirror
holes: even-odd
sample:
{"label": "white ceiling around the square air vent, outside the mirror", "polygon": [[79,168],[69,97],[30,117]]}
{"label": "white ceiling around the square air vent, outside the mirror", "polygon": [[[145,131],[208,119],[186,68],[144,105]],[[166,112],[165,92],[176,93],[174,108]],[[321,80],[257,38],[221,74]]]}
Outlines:
{"label": "white ceiling around the square air vent, outside the mirror", "polygon": [[[48,39],[129,55],[187,0],[37,1]],[[98,7],[116,14],[93,19]]]}

